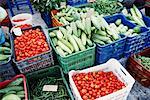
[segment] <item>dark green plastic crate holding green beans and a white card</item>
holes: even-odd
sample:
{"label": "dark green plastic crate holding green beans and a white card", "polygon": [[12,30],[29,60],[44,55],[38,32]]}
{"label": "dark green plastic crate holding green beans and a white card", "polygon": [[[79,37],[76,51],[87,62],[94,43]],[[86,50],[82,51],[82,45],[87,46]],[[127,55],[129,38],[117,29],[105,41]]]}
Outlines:
{"label": "dark green plastic crate holding green beans and a white card", "polygon": [[60,68],[60,66],[58,66],[58,65],[55,65],[55,66],[52,66],[52,67],[49,67],[49,68],[41,69],[41,70],[38,70],[38,71],[35,71],[35,72],[32,72],[32,73],[26,74],[29,100],[32,100],[32,98],[31,98],[31,89],[30,89],[29,83],[32,84],[32,81],[36,81],[37,79],[42,79],[46,76],[62,78],[63,83],[66,87],[66,90],[68,92],[68,95],[70,96],[70,100],[74,100],[74,97],[73,97],[72,92],[69,88],[69,85],[68,85],[68,83],[65,79],[63,71]]}

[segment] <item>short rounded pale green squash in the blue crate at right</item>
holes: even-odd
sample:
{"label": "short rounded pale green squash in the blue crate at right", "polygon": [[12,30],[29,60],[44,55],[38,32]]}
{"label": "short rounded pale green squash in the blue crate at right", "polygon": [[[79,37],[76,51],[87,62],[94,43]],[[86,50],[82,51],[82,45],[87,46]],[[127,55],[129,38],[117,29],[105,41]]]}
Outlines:
{"label": "short rounded pale green squash in the blue crate at right", "polygon": [[126,36],[136,36],[140,33],[140,27],[136,26],[130,29],[128,26],[122,24],[122,20],[118,19],[115,23],[109,24],[110,28],[114,29],[118,34],[124,34]]}

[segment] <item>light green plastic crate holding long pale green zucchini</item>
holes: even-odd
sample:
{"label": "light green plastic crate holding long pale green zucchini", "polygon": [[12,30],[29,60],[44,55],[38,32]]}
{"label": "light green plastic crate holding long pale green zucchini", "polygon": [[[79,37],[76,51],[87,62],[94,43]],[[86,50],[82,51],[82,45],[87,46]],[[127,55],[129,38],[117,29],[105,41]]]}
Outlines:
{"label": "light green plastic crate holding long pale green zucchini", "polygon": [[[55,29],[58,29],[58,27],[49,29],[49,32]],[[64,73],[68,73],[70,70],[83,69],[94,65],[95,48],[96,48],[95,44],[93,45],[93,47],[88,48],[84,51],[75,52],[73,54],[62,57],[58,54],[57,50],[55,49],[50,36],[49,36],[49,40],[52,48],[56,53],[58,62],[60,66],[63,68]]]}

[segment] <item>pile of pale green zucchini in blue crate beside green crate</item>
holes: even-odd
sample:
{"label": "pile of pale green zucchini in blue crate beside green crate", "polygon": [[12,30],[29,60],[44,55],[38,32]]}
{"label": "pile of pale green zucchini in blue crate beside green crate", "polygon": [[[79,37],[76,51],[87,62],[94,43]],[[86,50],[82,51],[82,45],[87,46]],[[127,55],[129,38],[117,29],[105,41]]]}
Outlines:
{"label": "pile of pale green zucchini in blue crate beside green crate", "polygon": [[100,45],[110,44],[121,37],[116,30],[112,29],[102,16],[91,17],[93,25],[96,29],[92,32],[92,40]]}

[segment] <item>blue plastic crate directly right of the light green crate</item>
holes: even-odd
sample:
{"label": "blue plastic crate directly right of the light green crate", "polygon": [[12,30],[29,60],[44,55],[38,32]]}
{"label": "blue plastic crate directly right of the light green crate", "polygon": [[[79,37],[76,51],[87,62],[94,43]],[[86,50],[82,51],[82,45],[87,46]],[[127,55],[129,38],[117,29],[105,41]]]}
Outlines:
{"label": "blue plastic crate directly right of the light green crate", "polygon": [[101,46],[96,45],[96,64],[105,63],[110,58],[120,59],[123,57],[126,37],[121,35],[121,39],[111,44]]}

